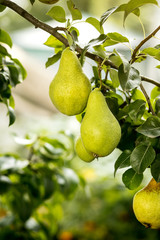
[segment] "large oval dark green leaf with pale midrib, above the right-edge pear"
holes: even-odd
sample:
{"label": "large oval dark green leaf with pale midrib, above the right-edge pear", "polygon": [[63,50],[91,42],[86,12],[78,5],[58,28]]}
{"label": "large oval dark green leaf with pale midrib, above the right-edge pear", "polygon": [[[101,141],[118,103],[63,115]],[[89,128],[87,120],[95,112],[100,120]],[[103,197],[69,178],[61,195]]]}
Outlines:
{"label": "large oval dark green leaf with pale midrib, above the right-edge pear", "polygon": [[130,163],[137,173],[143,173],[155,159],[155,151],[151,144],[140,144],[131,153]]}

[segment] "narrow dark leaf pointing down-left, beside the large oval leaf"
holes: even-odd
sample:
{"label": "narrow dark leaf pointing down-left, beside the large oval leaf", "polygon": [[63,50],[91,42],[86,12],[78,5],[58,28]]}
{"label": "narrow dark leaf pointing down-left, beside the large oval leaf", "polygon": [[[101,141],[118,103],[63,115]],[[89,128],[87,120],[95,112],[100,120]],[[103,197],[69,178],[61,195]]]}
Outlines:
{"label": "narrow dark leaf pointing down-left, beside the large oval leaf", "polygon": [[118,169],[130,166],[130,155],[131,155],[130,150],[125,150],[121,153],[121,155],[118,157],[114,165],[114,169],[115,169],[114,176]]}

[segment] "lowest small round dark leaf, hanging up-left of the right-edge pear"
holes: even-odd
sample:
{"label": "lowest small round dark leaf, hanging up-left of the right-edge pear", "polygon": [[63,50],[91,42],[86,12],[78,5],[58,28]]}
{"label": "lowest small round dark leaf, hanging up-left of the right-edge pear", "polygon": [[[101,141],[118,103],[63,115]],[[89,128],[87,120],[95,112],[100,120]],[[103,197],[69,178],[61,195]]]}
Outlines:
{"label": "lowest small round dark leaf, hanging up-left of the right-edge pear", "polygon": [[134,190],[137,187],[139,187],[142,180],[143,180],[143,174],[136,173],[132,168],[124,172],[122,176],[123,183],[130,190]]}

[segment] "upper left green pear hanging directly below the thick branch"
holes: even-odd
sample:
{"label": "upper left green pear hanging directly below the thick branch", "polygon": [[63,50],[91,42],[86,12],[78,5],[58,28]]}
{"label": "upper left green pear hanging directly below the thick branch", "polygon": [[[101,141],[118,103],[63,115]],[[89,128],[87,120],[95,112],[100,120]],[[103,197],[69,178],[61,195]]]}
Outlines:
{"label": "upper left green pear hanging directly below the thick branch", "polygon": [[91,83],[83,73],[76,54],[66,48],[49,87],[52,103],[66,115],[77,115],[85,109],[90,92]]}

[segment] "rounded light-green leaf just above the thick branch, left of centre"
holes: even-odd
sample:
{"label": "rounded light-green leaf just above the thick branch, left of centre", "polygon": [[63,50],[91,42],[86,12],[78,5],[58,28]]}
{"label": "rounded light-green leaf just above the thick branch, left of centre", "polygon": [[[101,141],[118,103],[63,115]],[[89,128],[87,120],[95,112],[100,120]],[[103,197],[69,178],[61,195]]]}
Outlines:
{"label": "rounded light-green leaf just above the thick branch, left of centre", "polygon": [[54,6],[48,12],[47,15],[55,19],[58,22],[66,22],[66,14],[62,7]]}

